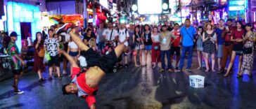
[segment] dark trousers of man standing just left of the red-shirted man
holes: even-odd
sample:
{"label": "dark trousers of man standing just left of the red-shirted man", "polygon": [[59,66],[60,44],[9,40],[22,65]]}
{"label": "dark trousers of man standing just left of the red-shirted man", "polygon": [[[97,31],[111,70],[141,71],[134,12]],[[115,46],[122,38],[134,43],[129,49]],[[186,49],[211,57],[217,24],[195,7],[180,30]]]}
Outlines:
{"label": "dark trousers of man standing just left of the red-shirted man", "polygon": [[167,55],[167,66],[168,69],[172,68],[172,63],[171,63],[171,52],[169,50],[161,50],[161,65],[162,68],[165,69],[165,54]]}

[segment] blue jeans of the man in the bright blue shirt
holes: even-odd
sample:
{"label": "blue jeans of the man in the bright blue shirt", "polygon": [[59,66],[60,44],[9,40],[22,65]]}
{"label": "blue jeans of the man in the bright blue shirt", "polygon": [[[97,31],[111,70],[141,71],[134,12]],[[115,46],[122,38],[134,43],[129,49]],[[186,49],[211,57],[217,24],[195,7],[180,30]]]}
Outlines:
{"label": "blue jeans of the man in the bright blue shirt", "polygon": [[179,63],[179,68],[182,69],[184,66],[184,59],[186,56],[186,52],[188,52],[188,66],[187,68],[191,68],[192,64],[192,56],[193,56],[193,45],[192,46],[182,46],[181,52],[181,61]]}

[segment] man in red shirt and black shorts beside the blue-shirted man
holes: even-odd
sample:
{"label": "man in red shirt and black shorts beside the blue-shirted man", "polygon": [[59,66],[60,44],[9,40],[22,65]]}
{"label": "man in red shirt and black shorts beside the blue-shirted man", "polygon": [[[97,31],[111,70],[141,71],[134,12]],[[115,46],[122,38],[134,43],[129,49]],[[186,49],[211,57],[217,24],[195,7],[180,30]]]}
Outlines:
{"label": "man in red shirt and black shorts beside the blue-shirted man", "polygon": [[172,59],[174,57],[174,53],[176,54],[176,65],[175,65],[175,69],[178,69],[178,64],[179,64],[179,59],[180,59],[180,46],[179,46],[179,42],[180,42],[180,38],[181,38],[181,32],[179,31],[179,24],[174,24],[174,29],[172,30],[172,34],[174,34],[174,36],[176,36],[176,40],[174,41],[174,38],[172,38],[172,42],[174,41],[174,43],[172,43],[172,48],[171,48],[171,62]]}

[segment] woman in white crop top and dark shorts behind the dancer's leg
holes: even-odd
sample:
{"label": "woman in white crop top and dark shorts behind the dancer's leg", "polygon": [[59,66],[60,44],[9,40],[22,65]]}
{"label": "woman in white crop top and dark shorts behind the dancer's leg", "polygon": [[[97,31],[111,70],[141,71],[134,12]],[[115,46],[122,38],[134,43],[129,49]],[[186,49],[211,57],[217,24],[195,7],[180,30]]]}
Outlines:
{"label": "woman in white crop top and dark shorts behind the dancer's leg", "polygon": [[[77,62],[80,52],[79,52],[79,48],[78,48],[77,44],[74,41],[72,41],[71,37],[70,37],[70,42],[68,43],[68,54],[70,54],[70,56],[73,57],[75,59],[75,61]],[[70,77],[72,74],[71,69],[72,68],[70,68]]]}

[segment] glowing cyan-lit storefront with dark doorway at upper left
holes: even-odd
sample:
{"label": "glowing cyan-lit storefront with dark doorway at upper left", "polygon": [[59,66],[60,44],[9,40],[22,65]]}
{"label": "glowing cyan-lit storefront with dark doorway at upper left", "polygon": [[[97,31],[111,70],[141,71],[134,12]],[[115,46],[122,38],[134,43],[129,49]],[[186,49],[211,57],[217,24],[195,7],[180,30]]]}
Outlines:
{"label": "glowing cyan-lit storefront with dark doorway at upper left", "polygon": [[38,6],[13,1],[7,2],[7,10],[8,31],[16,31],[20,35],[16,44],[21,50],[24,40],[30,39],[31,43],[37,31],[41,31],[41,12]]}

